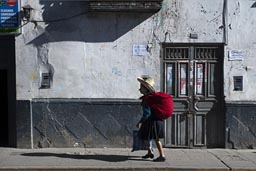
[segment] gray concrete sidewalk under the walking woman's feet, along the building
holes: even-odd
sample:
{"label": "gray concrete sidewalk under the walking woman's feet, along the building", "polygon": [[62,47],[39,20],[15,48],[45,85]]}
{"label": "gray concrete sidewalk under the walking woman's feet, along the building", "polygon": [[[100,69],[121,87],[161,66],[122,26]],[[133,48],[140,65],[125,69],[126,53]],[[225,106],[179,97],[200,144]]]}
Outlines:
{"label": "gray concrete sidewalk under the walking woman's feet, along the building", "polygon": [[141,159],[146,151],[131,152],[128,148],[0,148],[0,171],[256,171],[256,150],[165,148],[164,151],[167,160],[156,163]]}

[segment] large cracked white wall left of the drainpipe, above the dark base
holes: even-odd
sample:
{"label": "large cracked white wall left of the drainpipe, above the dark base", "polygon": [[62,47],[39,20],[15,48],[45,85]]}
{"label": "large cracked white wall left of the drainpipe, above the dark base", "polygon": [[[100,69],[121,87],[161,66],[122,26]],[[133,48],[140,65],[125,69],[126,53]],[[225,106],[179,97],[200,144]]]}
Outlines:
{"label": "large cracked white wall left of the drainpipe, above the dark base", "polygon": [[[163,1],[156,14],[88,13],[81,1],[24,1],[34,10],[17,40],[17,98],[137,98],[136,77],[160,90],[163,42],[223,42],[223,0]],[[72,7],[72,8],[71,8]],[[68,11],[68,12],[63,12]],[[190,39],[191,33],[198,39]],[[149,45],[144,56],[133,45]],[[53,75],[39,89],[40,74]]]}

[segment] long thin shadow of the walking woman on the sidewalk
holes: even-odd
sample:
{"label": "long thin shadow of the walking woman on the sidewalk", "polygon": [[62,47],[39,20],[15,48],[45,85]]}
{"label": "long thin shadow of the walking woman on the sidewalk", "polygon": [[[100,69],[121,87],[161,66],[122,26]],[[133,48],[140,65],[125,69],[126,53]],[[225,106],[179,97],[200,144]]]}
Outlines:
{"label": "long thin shadow of the walking woman on the sidewalk", "polygon": [[59,157],[59,158],[70,158],[70,159],[81,159],[81,160],[101,160],[106,162],[123,162],[127,160],[142,160],[140,156],[126,156],[126,155],[81,155],[81,154],[65,154],[65,153],[23,153],[22,156],[28,157]]}

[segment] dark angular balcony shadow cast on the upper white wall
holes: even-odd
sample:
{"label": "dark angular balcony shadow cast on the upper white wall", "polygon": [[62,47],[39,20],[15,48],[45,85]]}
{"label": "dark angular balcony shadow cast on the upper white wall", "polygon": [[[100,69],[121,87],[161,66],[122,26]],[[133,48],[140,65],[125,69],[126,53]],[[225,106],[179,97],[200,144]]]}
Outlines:
{"label": "dark angular balcony shadow cast on the upper white wall", "polygon": [[112,42],[133,29],[153,13],[90,12],[88,2],[82,1],[45,1],[42,34],[29,41],[40,46],[48,42],[82,41]]}

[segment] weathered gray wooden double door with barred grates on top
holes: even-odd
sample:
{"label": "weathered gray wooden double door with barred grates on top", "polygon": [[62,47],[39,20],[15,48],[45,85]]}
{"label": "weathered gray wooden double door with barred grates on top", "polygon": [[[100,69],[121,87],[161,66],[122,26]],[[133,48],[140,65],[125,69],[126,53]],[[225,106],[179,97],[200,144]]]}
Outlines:
{"label": "weathered gray wooden double door with barred grates on top", "polygon": [[219,132],[208,120],[218,122],[223,119],[219,116],[224,116],[221,49],[163,46],[163,88],[174,98],[174,114],[165,124],[165,146],[195,148],[218,144],[214,136]]}

